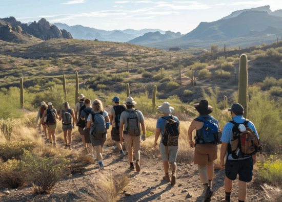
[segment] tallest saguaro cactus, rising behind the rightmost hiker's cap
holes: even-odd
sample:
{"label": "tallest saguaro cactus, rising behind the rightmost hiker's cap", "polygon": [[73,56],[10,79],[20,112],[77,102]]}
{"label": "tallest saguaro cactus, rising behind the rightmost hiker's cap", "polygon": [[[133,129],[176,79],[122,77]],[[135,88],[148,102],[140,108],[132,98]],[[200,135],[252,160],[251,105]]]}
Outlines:
{"label": "tallest saguaro cactus, rising behind the rightmost hiker's cap", "polygon": [[244,107],[244,117],[248,116],[247,86],[248,86],[247,55],[240,56],[238,103]]}

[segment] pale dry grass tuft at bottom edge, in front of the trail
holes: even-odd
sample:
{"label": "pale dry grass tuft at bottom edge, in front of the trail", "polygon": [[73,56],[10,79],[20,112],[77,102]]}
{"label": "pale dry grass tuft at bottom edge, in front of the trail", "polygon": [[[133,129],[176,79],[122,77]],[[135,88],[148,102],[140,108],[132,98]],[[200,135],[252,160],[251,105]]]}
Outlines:
{"label": "pale dry grass tuft at bottom edge, in front of the trail", "polygon": [[126,174],[105,174],[99,177],[95,183],[78,191],[79,201],[108,201],[116,202],[119,194],[129,184],[130,178]]}

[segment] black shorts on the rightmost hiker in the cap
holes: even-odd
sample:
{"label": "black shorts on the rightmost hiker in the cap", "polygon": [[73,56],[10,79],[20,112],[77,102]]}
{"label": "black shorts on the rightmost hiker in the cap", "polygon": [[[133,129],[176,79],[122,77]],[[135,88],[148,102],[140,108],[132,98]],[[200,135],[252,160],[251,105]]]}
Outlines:
{"label": "black shorts on the rightmost hiker in the cap", "polygon": [[253,177],[253,158],[243,160],[227,160],[225,164],[225,175],[234,181],[239,174],[239,181],[251,182]]}

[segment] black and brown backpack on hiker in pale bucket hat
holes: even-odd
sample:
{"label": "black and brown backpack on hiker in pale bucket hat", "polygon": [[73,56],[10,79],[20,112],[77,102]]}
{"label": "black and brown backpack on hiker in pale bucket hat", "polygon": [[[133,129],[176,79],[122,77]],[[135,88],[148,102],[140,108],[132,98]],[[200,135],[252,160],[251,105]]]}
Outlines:
{"label": "black and brown backpack on hiker in pale bucket hat", "polygon": [[178,146],[178,137],[179,137],[179,124],[174,120],[173,116],[169,118],[162,117],[166,120],[165,131],[163,134],[163,144],[166,147]]}

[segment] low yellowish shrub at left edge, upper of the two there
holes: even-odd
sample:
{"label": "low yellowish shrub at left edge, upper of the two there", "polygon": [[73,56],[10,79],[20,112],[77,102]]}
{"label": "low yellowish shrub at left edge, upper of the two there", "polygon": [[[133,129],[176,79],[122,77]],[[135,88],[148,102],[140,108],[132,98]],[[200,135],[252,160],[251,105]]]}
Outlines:
{"label": "low yellowish shrub at left edge, upper of the two there", "polygon": [[8,159],[20,160],[19,156],[24,154],[25,150],[32,150],[34,144],[25,141],[9,141],[0,144],[0,157],[6,162]]}

